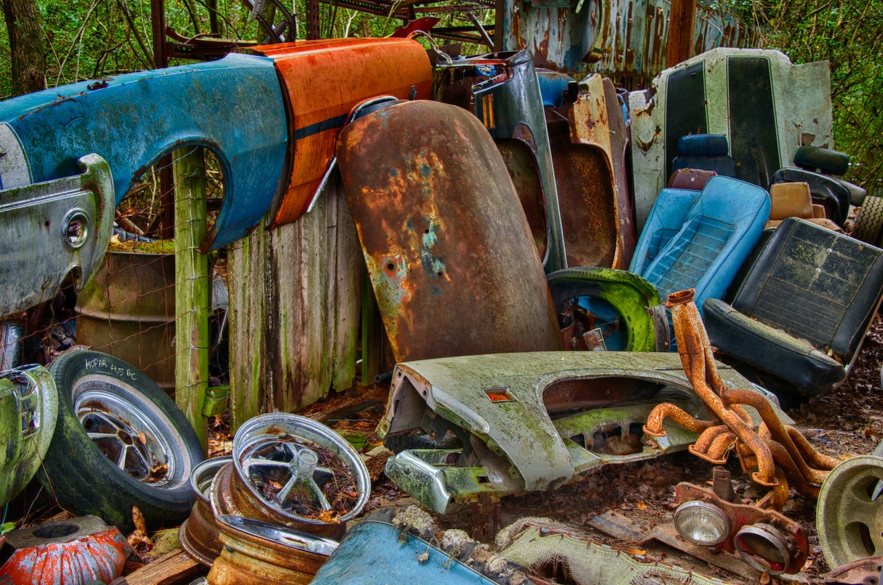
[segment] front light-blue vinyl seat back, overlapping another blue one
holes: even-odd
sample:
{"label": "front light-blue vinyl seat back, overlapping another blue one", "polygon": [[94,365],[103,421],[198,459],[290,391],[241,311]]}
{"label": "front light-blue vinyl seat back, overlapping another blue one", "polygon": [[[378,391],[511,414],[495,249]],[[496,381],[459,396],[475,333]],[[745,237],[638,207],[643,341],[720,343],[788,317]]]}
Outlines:
{"label": "front light-blue vinyl seat back, overlapping another blue one", "polygon": [[695,288],[701,312],[707,298],[723,298],[758,243],[769,213],[765,189],[738,179],[712,177],[681,229],[639,275],[656,286],[663,299],[671,292]]}

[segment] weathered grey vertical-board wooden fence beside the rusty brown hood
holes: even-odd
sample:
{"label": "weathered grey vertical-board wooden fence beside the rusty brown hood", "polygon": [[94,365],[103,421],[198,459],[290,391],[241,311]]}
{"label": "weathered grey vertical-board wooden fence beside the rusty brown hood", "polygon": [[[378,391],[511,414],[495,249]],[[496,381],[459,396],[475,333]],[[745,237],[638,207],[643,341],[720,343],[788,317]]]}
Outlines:
{"label": "weathered grey vertical-board wooden fence beside the rusty brown hood", "polygon": [[340,182],[293,224],[260,224],[228,262],[232,429],[349,388],[364,260]]}

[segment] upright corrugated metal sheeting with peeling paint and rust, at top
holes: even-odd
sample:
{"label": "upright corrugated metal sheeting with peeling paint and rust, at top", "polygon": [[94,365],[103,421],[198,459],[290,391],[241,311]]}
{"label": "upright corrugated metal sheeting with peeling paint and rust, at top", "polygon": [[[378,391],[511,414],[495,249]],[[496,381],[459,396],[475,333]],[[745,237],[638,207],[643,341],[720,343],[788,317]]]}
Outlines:
{"label": "upright corrugated metal sheeting with peeling paint and rust, at top", "polygon": [[[540,67],[652,77],[675,65],[666,63],[671,4],[665,0],[537,4],[505,0],[502,23],[497,24],[503,27],[502,48],[527,49]],[[696,53],[751,44],[750,25],[701,4],[698,9],[702,18],[694,25]]]}

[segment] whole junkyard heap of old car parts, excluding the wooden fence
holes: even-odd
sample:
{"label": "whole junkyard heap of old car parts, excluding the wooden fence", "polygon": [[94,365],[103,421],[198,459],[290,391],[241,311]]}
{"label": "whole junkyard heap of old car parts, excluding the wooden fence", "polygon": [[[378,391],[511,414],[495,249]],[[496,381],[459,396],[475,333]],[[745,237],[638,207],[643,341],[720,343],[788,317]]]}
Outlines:
{"label": "whole junkyard heap of old car parts, excluding the wooden fence", "polygon": [[[432,54],[275,44],[0,104],[0,229],[52,260],[0,261],[0,585],[876,582],[883,208],[838,178],[826,67],[713,49],[627,93]],[[351,95],[305,99],[357,57]],[[145,108],[127,149],[93,115],[173,77],[217,103],[224,76],[271,112],[247,140]],[[87,123],[72,152],[59,128]],[[339,184],[391,371],[232,434],[213,384],[204,445],[119,356],[22,363],[29,316],[86,296],[110,210],[182,142],[226,173],[203,254]],[[82,305],[53,326],[81,333]]]}

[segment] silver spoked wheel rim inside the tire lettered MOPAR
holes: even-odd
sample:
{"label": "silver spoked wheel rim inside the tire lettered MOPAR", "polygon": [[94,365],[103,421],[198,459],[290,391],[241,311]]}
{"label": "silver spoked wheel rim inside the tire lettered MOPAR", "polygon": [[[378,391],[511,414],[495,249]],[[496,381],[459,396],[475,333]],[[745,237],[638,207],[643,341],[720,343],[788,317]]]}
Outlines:
{"label": "silver spoked wheel rim inside the tire lettered MOPAR", "polygon": [[[166,438],[170,432],[113,389],[103,382],[81,385],[73,403],[79,424],[92,444],[125,475],[157,488],[167,485],[176,472]],[[162,466],[165,470],[159,475],[156,469]]]}

